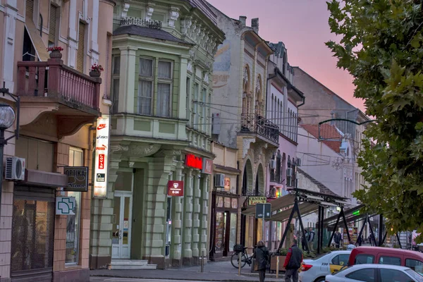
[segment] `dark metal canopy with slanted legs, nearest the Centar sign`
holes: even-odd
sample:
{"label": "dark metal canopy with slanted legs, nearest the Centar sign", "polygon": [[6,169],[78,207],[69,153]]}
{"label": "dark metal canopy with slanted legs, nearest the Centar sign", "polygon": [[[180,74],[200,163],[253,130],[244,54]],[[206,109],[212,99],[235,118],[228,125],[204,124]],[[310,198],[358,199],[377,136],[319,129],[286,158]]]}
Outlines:
{"label": "dark metal canopy with slanted legs, nearest the Centar sign", "polygon": [[[347,202],[344,197],[339,197],[337,195],[330,195],[321,192],[314,192],[310,190],[300,189],[300,188],[288,188],[288,191],[291,192],[290,195],[294,197],[293,207],[289,209],[285,209],[282,212],[278,212],[271,216],[271,221],[286,221],[288,219],[288,223],[286,225],[285,231],[283,231],[283,236],[281,243],[279,243],[278,250],[281,250],[283,243],[285,242],[286,235],[288,234],[288,228],[290,228],[290,223],[295,216],[298,217],[300,221],[300,228],[303,238],[305,238],[305,230],[304,226],[302,225],[302,218],[301,216],[305,216],[307,214],[312,214],[318,211],[319,214],[319,224],[318,224],[318,233],[317,233],[317,252],[320,253],[321,247],[323,245],[323,219],[324,219],[324,209],[327,207],[341,207],[341,212],[343,213],[343,206]],[[285,196],[286,197],[286,196]],[[272,206],[273,206],[272,201]],[[272,208],[273,209],[273,208]],[[344,219],[345,222],[345,219]],[[345,224],[346,226],[346,224]],[[350,235],[348,233],[348,239]],[[305,245],[305,249],[309,251],[308,245]]]}

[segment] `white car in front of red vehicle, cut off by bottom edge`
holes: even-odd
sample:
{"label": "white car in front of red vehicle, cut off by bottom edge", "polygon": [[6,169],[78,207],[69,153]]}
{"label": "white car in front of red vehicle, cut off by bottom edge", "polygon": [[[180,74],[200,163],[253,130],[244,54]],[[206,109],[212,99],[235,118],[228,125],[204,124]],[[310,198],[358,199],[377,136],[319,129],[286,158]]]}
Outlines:
{"label": "white car in front of red vehicle, cut off by bottom edge", "polygon": [[327,275],[326,282],[423,282],[423,276],[410,267],[388,264],[356,264]]}

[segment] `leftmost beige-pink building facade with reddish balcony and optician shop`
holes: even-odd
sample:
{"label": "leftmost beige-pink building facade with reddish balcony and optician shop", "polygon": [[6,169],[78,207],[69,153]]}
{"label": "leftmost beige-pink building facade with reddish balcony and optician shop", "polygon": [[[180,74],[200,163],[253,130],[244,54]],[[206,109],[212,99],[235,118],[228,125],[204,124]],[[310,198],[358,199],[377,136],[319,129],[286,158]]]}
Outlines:
{"label": "leftmost beige-pink building facade with reddish balcony and optician shop", "polygon": [[0,78],[20,97],[1,97],[20,109],[4,166],[23,165],[2,179],[1,281],[89,279],[92,125],[109,112],[109,69],[88,74],[107,64],[111,48],[98,42],[111,34],[113,9],[109,0],[0,1]]}

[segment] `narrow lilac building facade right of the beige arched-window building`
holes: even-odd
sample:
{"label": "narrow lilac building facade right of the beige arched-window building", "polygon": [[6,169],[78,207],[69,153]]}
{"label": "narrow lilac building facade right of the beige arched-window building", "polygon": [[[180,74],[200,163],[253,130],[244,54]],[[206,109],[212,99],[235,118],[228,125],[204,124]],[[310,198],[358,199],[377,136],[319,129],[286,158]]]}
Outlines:
{"label": "narrow lilac building facade right of the beige arched-window building", "polygon": [[[298,165],[298,107],[305,103],[302,92],[293,86],[294,72],[288,63],[288,54],[283,42],[269,44],[274,50],[268,64],[266,93],[266,117],[279,128],[278,149],[273,154],[267,169],[266,196],[269,201],[288,194],[286,188],[295,187],[295,167]],[[276,211],[275,211],[276,213]],[[266,222],[266,245],[276,250],[281,241],[286,223]]]}

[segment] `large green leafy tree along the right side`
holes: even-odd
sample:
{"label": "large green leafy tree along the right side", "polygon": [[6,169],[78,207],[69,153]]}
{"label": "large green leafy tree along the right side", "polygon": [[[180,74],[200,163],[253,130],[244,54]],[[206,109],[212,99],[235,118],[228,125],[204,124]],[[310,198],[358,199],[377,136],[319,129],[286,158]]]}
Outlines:
{"label": "large green leafy tree along the right side", "polygon": [[[370,123],[359,165],[369,185],[354,193],[383,214],[387,231],[423,233],[422,0],[332,0],[326,42],[337,66],[354,77]],[[421,238],[417,240],[422,241]]]}

